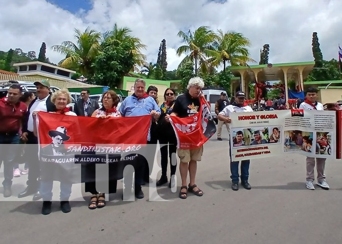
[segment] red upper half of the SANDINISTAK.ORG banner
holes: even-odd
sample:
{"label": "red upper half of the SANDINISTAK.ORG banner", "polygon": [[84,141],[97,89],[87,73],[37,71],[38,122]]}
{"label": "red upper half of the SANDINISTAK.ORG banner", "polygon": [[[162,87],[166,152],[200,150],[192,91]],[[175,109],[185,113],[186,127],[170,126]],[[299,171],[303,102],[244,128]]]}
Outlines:
{"label": "red upper half of the SANDINISTAK.ORG banner", "polygon": [[39,139],[49,144],[49,131],[64,127],[64,144],[146,144],[150,121],[150,115],[102,119],[39,112]]}

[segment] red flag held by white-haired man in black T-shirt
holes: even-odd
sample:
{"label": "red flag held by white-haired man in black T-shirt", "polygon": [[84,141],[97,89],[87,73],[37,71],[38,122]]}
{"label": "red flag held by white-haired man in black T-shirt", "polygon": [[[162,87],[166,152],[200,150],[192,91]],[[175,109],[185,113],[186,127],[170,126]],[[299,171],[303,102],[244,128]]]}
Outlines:
{"label": "red flag held by white-haired man in black T-shirt", "polygon": [[200,147],[216,132],[215,122],[205,100],[201,98],[201,109],[186,118],[171,116],[170,120],[177,138],[177,148]]}

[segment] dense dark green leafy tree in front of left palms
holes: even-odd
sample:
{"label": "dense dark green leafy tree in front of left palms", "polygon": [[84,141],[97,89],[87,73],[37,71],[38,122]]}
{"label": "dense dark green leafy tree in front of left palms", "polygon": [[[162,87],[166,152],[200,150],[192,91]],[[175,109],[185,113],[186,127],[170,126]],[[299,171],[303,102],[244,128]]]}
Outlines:
{"label": "dense dark green leafy tree in front of left palms", "polygon": [[99,85],[115,87],[133,64],[130,43],[107,39],[101,44],[101,53],[95,59],[95,75],[92,81]]}

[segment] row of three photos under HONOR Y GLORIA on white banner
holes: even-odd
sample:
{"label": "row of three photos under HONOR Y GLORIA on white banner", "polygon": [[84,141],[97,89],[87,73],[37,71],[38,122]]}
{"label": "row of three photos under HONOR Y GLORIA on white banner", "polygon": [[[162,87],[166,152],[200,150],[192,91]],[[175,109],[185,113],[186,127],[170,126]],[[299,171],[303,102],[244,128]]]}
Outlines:
{"label": "row of three photos under HONOR Y GLORIA on white banner", "polygon": [[237,128],[233,130],[233,147],[280,143],[281,126]]}

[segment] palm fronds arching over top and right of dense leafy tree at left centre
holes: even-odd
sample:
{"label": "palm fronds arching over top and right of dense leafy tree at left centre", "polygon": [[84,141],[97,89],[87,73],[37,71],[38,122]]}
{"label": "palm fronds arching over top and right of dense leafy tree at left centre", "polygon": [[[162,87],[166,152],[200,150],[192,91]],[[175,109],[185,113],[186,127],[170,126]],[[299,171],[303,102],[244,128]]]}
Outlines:
{"label": "palm fronds arching over top and right of dense leafy tree at left centre", "polygon": [[108,38],[112,40],[117,40],[120,43],[121,42],[126,42],[130,43],[131,45],[131,53],[133,54],[133,59],[134,59],[134,67],[133,69],[135,71],[138,71],[137,66],[144,66],[148,65],[146,62],[146,55],[144,55],[141,50],[144,49],[146,50],[146,45],[141,42],[141,40],[137,37],[132,37],[130,35],[132,31],[127,28],[123,27],[120,28],[118,27],[117,23],[114,24],[113,29],[110,31],[107,31],[103,34],[102,39],[103,41],[107,40]]}

